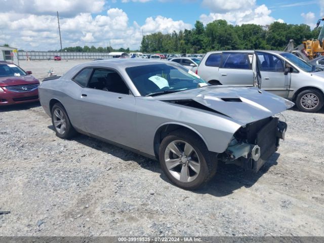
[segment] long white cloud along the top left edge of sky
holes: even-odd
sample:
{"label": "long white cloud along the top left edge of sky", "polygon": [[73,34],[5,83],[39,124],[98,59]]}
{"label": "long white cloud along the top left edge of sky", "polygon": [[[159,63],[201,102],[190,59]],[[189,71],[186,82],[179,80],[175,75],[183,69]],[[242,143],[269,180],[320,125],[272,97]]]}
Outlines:
{"label": "long white cloud along the top left edge of sky", "polygon": [[4,0],[0,12],[14,10],[24,14],[56,15],[59,11],[61,16],[75,16],[78,13],[99,13],[104,5],[104,0]]}

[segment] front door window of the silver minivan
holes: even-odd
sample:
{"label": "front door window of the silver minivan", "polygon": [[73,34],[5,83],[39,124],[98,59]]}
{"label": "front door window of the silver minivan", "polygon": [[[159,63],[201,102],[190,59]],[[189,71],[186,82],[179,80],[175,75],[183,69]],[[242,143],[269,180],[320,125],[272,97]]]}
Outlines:
{"label": "front door window of the silver minivan", "polygon": [[261,71],[284,72],[284,61],[269,53],[257,52],[257,54],[261,64]]}

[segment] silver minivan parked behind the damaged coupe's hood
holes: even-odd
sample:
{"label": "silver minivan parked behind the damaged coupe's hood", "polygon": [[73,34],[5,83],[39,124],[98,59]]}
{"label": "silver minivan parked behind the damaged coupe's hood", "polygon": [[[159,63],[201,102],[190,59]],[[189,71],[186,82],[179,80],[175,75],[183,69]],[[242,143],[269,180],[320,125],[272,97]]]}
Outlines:
{"label": "silver minivan parked behind the damaged coupe's hood", "polygon": [[236,86],[254,86],[258,72],[261,89],[291,99],[301,111],[317,112],[324,104],[324,71],[287,52],[209,52],[195,72],[212,85]]}

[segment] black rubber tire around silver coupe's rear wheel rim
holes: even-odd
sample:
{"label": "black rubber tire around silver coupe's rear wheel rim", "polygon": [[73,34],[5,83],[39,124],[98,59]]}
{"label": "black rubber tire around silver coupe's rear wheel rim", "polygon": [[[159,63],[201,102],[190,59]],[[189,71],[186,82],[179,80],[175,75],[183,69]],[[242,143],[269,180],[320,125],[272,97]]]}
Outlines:
{"label": "black rubber tire around silver coupe's rear wheel rim", "polygon": [[[54,112],[57,110],[60,110],[62,117],[64,117],[64,119],[65,119],[64,132],[63,131],[60,132],[60,129],[55,125],[55,121],[58,121],[58,117],[54,114]],[[74,130],[74,128],[71,125],[71,122],[70,122],[70,119],[66,113],[66,110],[61,103],[55,103],[53,105],[51,114],[52,114],[52,125],[54,127],[56,136],[58,136],[59,138],[68,139],[68,138],[73,137],[76,134],[76,131]]]}

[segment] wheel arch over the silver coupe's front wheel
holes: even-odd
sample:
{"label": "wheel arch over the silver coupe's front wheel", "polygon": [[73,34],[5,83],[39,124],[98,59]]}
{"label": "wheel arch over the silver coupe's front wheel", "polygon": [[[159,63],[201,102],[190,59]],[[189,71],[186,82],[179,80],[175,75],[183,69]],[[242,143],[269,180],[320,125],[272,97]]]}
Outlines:
{"label": "wheel arch over the silver coupe's front wheel", "polygon": [[168,134],[170,134],[173,131],[179,130],[179,129],[186,129],[188,132],[190,133],[194,133],[197,136],[199,136],[201,138],[201,140],[203,140],[203,142],[206,144],[206,146],[208,146],[206,140],[204,139],[203,135],[201,135],[197,130],[195,130],[194,128],[185,125],[185,124],[181,124],[181,123],[165,123],[165,124],[161,124],[155,131],[155,135],[154,135],[154,140],[153,140],[153,149],[154,149],[154,154],[155,157],[158,159],[158,150],[159,150],[159,145],[161,143],[161,141],[168,136]]}

